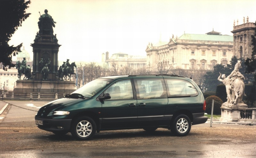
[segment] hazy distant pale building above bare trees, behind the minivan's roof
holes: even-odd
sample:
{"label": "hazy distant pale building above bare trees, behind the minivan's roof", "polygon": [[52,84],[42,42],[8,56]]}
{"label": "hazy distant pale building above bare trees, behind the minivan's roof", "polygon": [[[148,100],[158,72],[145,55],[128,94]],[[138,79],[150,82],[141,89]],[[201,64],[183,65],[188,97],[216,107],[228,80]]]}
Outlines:
{"label": "hazy distant pale building above bare trees, behind the minivan's roof", "polygon": [[102,62],[108,63],[108,67],[111,68],[113,63],[118,67],[129,67],[133,70],[139,70],[146,68],[146,56],[133,56],[124,53],[115,53],[108,57],[109,53],[102,53]]}

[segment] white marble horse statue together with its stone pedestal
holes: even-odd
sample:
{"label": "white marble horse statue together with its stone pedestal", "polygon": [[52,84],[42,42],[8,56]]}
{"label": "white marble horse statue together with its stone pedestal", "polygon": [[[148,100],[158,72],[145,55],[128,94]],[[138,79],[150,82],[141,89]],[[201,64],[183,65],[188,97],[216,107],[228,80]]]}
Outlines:
{"label": "white marble horse statue together with its stone pedestal", "polygon": [[220,121],[237,122],[239,112],[236,110],[248,108],[242,101],[244,93],[244,75],[239,72],[241,61],[238,59],[234,70],[227,77],[220,74],[218,80],[226,86],[227,101],[221,105]]}

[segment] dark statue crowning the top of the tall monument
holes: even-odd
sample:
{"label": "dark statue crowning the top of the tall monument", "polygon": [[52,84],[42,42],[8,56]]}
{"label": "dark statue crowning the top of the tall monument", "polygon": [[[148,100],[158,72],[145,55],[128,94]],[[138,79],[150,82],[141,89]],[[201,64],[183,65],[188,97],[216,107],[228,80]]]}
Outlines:
{"label": "dark statue crowning the top of the tall monument", "polygon": [[53,35],[52,27],[55,27],[55,23],[56,22],[52,19],[52,16],[48,14],[47,9],[45,9],[44,14],[40,14],[38,21],[39,34]]}

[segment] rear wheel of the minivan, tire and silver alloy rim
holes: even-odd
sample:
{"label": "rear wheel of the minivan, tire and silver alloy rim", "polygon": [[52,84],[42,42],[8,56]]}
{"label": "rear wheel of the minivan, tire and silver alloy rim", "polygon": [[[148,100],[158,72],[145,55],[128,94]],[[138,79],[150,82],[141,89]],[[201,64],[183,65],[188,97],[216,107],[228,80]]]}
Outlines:
{"label": "rear wheel of the minivan, tire and silver alloy rim", "polygon": [[176,136],[186,136],[191,129],[191,121],[187,115],[178,115],[172,121],[171,131]]}

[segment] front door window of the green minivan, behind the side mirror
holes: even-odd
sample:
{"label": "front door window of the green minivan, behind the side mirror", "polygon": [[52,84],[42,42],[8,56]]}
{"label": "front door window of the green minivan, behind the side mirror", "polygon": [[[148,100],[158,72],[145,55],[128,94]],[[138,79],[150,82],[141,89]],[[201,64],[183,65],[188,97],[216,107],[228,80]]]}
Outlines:
{"label": "front door window of the green minivan, behind the side mirror", "polygon": [[109,93],[111,99],[133,99],[132,82],[131,80],[118,81],[108,87],[104,93]]}

